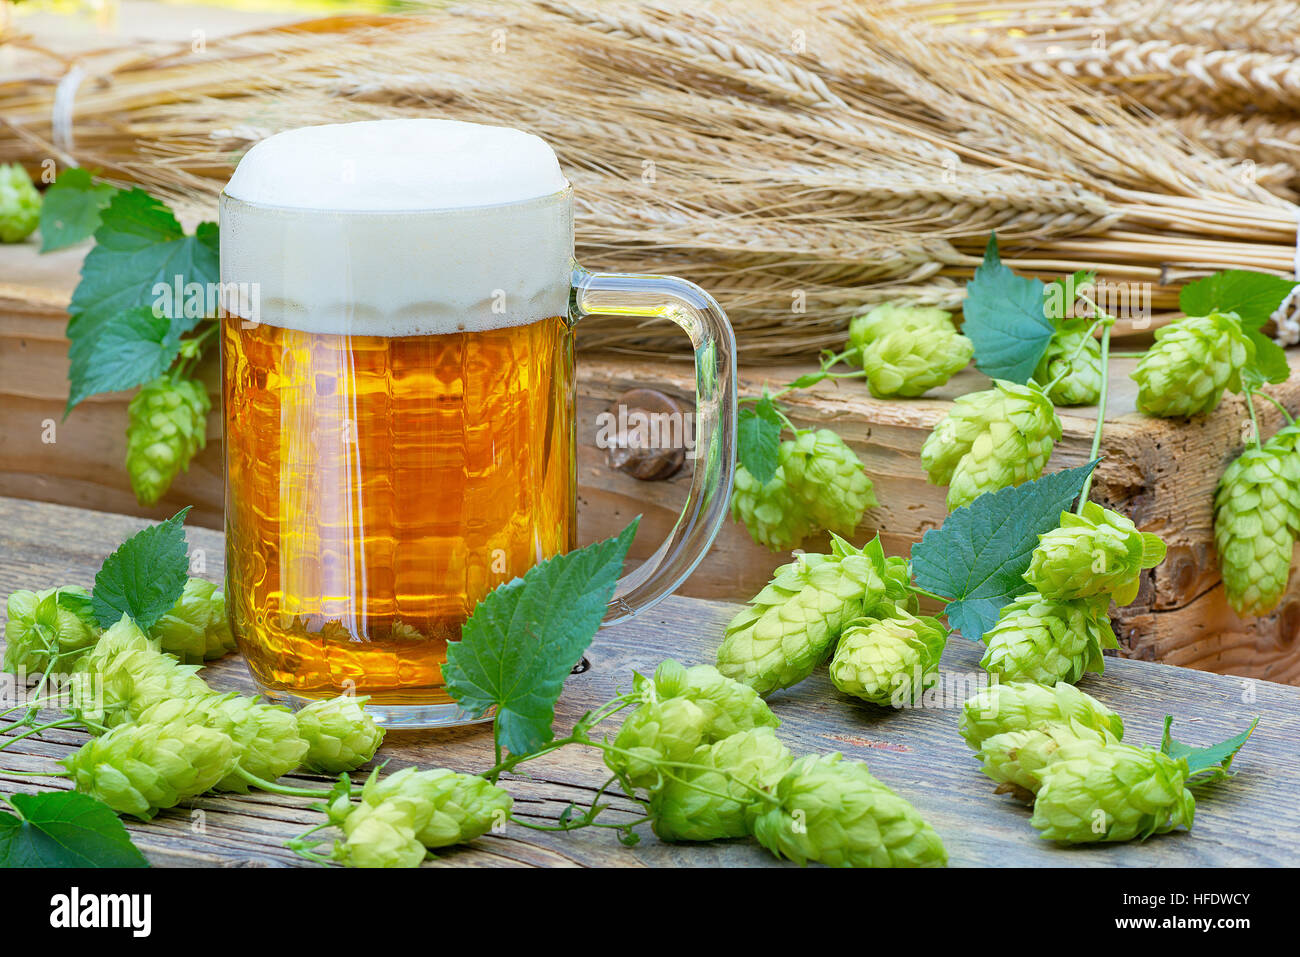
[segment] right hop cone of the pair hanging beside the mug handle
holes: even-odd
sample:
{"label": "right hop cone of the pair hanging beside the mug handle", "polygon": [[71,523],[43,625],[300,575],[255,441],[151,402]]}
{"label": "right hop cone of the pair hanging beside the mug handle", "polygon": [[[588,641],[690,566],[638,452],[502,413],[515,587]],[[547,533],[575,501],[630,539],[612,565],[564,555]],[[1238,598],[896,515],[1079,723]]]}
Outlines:
{"label": "right hop cone of the pair hanging beside the mug handle", "polygon": [[781,442],[781,469],[790,494],[816,528],[853,534],[876,505],[862,460],[831,429],[800,432]]}

